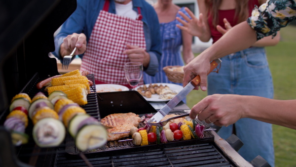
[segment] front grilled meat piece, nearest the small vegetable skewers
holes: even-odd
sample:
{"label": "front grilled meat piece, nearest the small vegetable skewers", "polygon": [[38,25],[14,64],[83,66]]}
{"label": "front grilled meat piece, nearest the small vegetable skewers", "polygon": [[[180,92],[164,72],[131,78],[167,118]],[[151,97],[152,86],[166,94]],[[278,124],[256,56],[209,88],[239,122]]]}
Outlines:
{"label": "front grilled meat piece, nearest the small vegetable skewers", "polygon": [[[128,137],[130,135],[129,131],[130,129],[134,127],[134,125],[120,125],[120,126],[115,126],[113,128],[107,129],[107,133],[108,133],[108,141],[114,141],[114,140],[119,140],[120,138],[123,137]],[[124,132],[127,131],[127,133],[118,133],[118,134],[112,134],[115,132]]]}

